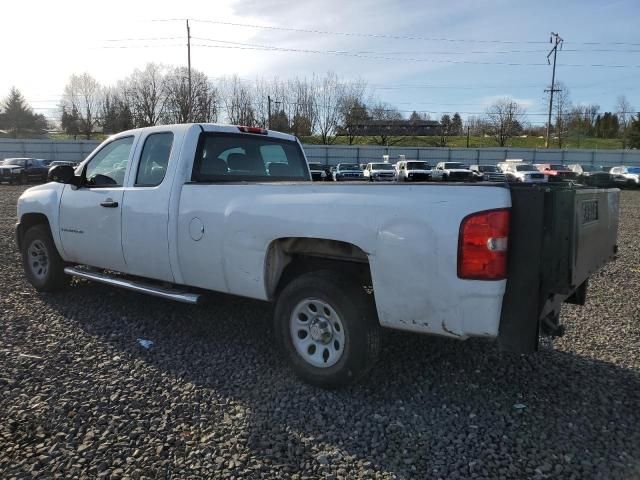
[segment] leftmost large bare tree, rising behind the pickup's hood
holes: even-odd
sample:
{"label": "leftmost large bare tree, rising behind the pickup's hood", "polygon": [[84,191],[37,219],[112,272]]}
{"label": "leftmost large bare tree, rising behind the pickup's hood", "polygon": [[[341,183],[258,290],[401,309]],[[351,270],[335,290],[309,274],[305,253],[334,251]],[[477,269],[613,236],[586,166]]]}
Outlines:
{"label": "leftmost large bare tree, rising behind the pickup's hood", "polygon": [[62,106],[77,112],[79,131],[86,136],[87,140],[99,125],[98,112],[102,104],[102,96],[103,88],[88,73],[71,75],[64,87]]}

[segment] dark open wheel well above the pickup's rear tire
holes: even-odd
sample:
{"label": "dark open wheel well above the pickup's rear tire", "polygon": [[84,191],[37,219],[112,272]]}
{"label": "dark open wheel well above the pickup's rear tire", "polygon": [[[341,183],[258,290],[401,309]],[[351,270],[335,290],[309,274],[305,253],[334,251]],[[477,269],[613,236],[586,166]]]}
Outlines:
{"label": "dark open wheel well above the pickup's rear tire", "polygon": [[316,270],[336,270],[371,285],[369,257],[360,247],[338,240],[288,237],[274,240],[267,250],[267,296],[276,297],[291,280]]}

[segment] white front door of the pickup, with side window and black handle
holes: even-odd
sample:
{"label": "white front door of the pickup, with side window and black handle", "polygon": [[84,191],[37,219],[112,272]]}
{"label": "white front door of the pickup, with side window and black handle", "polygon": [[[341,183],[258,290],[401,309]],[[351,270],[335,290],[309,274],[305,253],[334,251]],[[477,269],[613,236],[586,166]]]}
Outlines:
{"label": "white front door of the pickup, with side window and black handle", "polygon": [[123,185],[136,137],[119,137],[86,163],[82,185],[65,185],[60,201],[60,238],[76,263],[124,271],[120,217]]}

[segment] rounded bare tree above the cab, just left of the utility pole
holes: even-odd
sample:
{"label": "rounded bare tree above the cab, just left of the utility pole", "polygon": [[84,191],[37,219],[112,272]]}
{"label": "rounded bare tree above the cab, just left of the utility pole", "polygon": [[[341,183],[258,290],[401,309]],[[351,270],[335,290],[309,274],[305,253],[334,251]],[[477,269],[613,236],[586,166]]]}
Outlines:
{"label": "rounded bare tree above the cab, just left of the utility pole", "polygon": [[144,70],[134,70],[124,81],[126,102],[138,127],[160,123],[165,109],[165,68],[148,63]]}

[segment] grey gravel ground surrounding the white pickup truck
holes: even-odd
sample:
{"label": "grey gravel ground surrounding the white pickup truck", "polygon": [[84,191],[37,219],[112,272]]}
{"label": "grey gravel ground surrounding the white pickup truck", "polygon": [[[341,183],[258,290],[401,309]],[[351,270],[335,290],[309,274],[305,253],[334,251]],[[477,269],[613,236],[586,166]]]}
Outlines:
{"label": "grey gravel ground surrounding the white pickup truck", "polygon": [[0,187],[0,478],[640,478],[640,191],[562,339],[521,357],[389,333],[367,380],[327,392],[292,376],[267,304],[37,294],[22,190]]}

